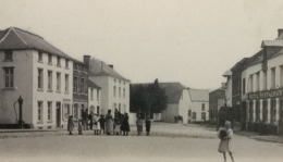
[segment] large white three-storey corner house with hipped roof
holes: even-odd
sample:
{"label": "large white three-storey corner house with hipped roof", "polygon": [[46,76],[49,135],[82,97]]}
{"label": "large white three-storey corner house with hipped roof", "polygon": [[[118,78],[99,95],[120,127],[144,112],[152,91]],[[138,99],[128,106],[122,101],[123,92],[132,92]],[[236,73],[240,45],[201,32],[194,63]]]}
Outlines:
{"label": "large white three-storey corner house with hipped roof", "polygon": [[[16,27],[0,30],[0,126],[65,127],[72,114],[73,59],[42,37]],[[15,107],[14,107],[15,105]]]}

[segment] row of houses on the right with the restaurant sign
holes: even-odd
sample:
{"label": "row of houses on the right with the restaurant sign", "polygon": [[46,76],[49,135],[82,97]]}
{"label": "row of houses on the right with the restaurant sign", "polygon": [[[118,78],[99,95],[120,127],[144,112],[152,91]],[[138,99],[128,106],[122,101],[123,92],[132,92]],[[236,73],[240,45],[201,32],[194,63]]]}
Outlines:
{"label": "row of houses on the right with the restaurant sign", "polygon": [[[224,104],[232,107],[234,121],[243,129],[283,134],[283,29],[278,30],[278,38],[263,40],[261,49],[250,58],[238,61],[231,70],[231,94],[224,95],[223,88],[214,92],[214,102],[210,103],[211,119],[219,110],[216,98],[224,98]],[[210,94],[211,99],[213,94]],[[227,103],[226,98],[232,102]]]}

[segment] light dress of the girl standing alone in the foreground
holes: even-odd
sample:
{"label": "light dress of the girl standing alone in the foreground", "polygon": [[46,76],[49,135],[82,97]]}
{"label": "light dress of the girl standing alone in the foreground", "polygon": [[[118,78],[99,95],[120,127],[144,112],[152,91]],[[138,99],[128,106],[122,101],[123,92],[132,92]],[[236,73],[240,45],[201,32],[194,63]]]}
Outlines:
{"label": "light dress of the girl standing alone in the foreground", "polygon": [[[233,152],[232,149],[232,135],[233,130],[231,128],[226,129],[227,136],[225,138],[222,138],[220,140],[218,151],[219,152]],[[220,132],[218,133],[218,136],[220,136]]]}

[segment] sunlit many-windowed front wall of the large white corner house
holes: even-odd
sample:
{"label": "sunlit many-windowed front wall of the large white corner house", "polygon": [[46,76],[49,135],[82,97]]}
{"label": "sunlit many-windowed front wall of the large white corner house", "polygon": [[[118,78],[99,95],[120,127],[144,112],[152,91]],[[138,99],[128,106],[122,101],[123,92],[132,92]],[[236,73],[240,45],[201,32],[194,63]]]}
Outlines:
{"label": "sunlit many-windowed front wall of the large white corner house", "polygon": [[[60,126],[66,127],[67,117],[72,115],[73,100],[73,62],[61,58],[61,66],[57,65],[57,55],[52,55],[52,63],[48,63],[48,54],[42,53],[42,62],[38,61],[38,52],[33,52],[33,126],[56,127],[57,126],[57,102],[60,102]],[[44,70],[44,89],[38,89],[38,68]],[[48,90],[48,71],[52,71],[52,90]],[[61,73],[60,91],[57,90],[57,73]],[[65,74],[69,75],[69,90],[65,91]],[[42,120],[38,121],[38,101],[42,102]],[[52,102],[51,120],[47,120],[48,102]],[[66,107],[69,105],[69,111]]]}

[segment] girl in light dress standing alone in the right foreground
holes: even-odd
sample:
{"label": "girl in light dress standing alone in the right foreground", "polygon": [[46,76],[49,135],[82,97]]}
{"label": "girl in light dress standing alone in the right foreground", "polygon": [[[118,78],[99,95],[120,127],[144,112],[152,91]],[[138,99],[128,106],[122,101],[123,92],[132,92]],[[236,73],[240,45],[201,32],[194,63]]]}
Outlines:
{"label": "girl in light dress standing alone in the right foreground", "polygon": [[232,149],[232,135],[233,130],[231,128],[231,123],[225,121],[225,128],[221,128],[218,133],[220,138],[220,144],[218,147],[218,151],[223,153],[224,162],[226,162],[226,152],[229,152],[232,162],[235,162],[233,157],[233,149]]}

